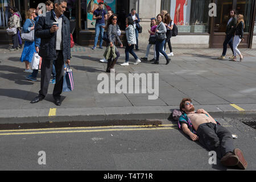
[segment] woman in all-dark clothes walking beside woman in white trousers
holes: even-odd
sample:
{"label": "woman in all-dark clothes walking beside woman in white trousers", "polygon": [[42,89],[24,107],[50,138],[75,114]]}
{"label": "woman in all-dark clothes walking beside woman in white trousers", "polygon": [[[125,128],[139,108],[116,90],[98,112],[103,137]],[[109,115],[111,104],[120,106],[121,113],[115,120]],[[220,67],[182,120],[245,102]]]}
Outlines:
{"label": "woman in all-dark clothes walking beside woman in white trousers", "polygon": [[234,38],[234,32],[236,31],[236,26],[237,26],[236,10],[230,10],[229,16],[230,16],[230,19],[228,21],[228,26],[226,27],[226,36],[225,36],[225,41],[223,43],[223,52],[222,52],[222,55],[218,57],[218,59],[225,59],[226,51],[228,49],[228,44],[233,52],[233,56],[229,57],[229,59],[234,58],[233,38]]}

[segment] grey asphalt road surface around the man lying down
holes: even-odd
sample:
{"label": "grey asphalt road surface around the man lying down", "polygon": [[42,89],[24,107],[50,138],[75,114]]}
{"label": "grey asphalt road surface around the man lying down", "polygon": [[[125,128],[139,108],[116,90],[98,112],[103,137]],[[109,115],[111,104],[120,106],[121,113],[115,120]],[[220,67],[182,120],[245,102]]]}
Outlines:
{"label": "grey asphalt road surface around the man lying down", "polygon": [[[255,119],[217,120],[238,135],[234,145],[243,151],[247,170],[255,170],[255,129],[241,122]],[[1,130],[0,170],[238,170],[221,166],[219,160],[210,165],[209,151],[185,137],[176,124],[163,123],[160,127]]]}

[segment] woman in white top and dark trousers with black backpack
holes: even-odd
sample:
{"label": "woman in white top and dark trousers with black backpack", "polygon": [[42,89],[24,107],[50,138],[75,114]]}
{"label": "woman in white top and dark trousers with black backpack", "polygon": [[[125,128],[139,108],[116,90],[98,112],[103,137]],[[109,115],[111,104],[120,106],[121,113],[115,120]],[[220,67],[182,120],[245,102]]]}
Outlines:
{"label": "woman in white top and dark trousers with black backpack", "polygon": [[170,53],[167,56],[174,56],[172,52],[171,38],[172,38],[172,29],[174,28],[174,21],[172,20],[170,14],[166,14],[164,16],[164,24],[166,25],[166,43],[164,43],[164,50],[166,51],[166,44],[168,43],[168,47],[170,49]]}

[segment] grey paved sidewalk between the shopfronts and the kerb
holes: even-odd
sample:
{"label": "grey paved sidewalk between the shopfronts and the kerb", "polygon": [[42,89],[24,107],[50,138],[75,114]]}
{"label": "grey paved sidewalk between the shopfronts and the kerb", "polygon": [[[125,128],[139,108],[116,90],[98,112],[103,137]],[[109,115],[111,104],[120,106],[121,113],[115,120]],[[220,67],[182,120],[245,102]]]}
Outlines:
{"label": "grey paved sidewalk between the shopfronts and the kerb", "polygon": [[[76,47],[73,49],[71,60],[75,90],[63,93],[63,97],[61,97],[63,104],[57,107],[57,111],[63,111],[63,115],[59,115],[60,117],[65,117],[64,113],[68,109],[72,110],[73,115],[79,115],[80,111],[88,111],[93,115],[90,110],[86,109],[104,108],[104,114],[108,113],[109,119],[118,118],[118,114],[125,114],[126,111],[122,111],[125,107],[130,108],[131,113],[134,112],[134,108],[137,109],[135,110],[138,111],[137,113],[140,111],[143,113],[143,109],[138,109],[138,107],[144,107],[145,110],[152,107],[156,108],[156,114],[161,116],[167,113],[166,109],[162,107],[178,106],[184,97],[191,97],[196,107],[205,107],[213,114],[225,111],[231,114],[236,113],[237,110],[229,104],[242,105],[247,113],[254,111],[252,107],[256,104],[256,59],[253,57],[256,55],[255,50],[245,49],[244,51],[249,51],[251,56],[246,56],[245,60],[240,63],[217,60],[216,55],[219,56],[221,49],[174,49],[175,56],[171,57],[172,61],[169,65],[164,65],[163,57],[160,59],[159,65],[152,65],[148,62],[133,65],[134,59],[131,57],[129,67],[120,65],[124,62],[125,52],[124,49],[119,49],[119,51],[121,57],[115,65],[115,75],[118,73],[125,73],[125,75],[128,73],[159,73],[159,98],[148,100],[147,93],[98,93],[97,88],[101,80],[97,80],[97,77],[101,73],[105,74],[107,65],[99,61],[103,58],[104,50],[92,51],[89,47]],[[40,73],[38,81],[26,80],[28,73],[23,72],[24,63],[19,61],[21,51],[10,54],[0,48],[0,53],[0,109],[5,111],[8,109],[21,110],[23,114],[19,112],[16,114],[29,116],[31,109],[38,109],[40,113],[44,109],[56,108],[52,98],[54,85],[49,85],[46,100],[35,105],[30,104],[40,89]],[[137,52],[137,55],[143,57],[144,50]],[[152,52],[150,56],[152,56]],[[109,73],[107,75],[110,76]],[[117,84],[119,81],[115,80],[114,82]],[[137,86],[142,86],[141,82]],[[160,107],[162,109],[158,110],[157,108]],[[108,108],[112,109],[108,110]],[[150,117],[154,115],[154,113],[150,114]],[[142,117],[139,114],[137,116]],[[2,115],[0,115],[1,117]],[[46,115],[44,117],[42,115],[41,121],[47,119],[49,118],[46,111]],[[82,117],[78,119],[82,119]]]}

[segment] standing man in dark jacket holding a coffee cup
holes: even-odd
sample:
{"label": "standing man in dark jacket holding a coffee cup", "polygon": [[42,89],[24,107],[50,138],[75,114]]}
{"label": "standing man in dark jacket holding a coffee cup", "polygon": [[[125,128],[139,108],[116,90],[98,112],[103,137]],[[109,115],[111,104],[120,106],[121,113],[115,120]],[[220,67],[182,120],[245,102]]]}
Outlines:
{"label": "standing man in dark jacket holding a coffee cup", "polygon": [[[41,38],[39,55],[43,58],[41,67],[41,89],[39,96],[31,104],[42,101],[48,92],[55,60],[56,84],[53,90],[54,103],[61,105],[60,94],[63,89],[64,63],[70,64],[71,38],[69,20],[63,15],[67,8],[67,0],[55,0],[54,10],[40,17],[36,24],[36,37]],[[58,25],[56,25],[58,23]]]}

